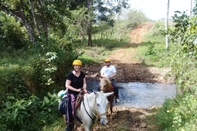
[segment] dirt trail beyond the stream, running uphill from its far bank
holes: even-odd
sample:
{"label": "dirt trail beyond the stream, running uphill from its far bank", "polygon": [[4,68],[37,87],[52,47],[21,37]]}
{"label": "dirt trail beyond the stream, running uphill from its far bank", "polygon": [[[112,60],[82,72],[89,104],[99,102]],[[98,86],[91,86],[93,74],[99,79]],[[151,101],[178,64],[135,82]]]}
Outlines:
{"label": "dirt trail beyond the stream, running uphill from its far bank", "polygon": [[[145,66],[142,63],[144,59],[137,60],[135,51],[142,41],[142,37],[152,27],[154,23],[147,22],[139,25],[131,31],[131,42],[115,50],[109,58],[112,64],[117,68],[116,81],[118,82],[159,82],[172,83],[172,79],[166,78],[166,74],[170,71],[169,68],[157,68]],[[88,79],[99,79],[99,71],[101,65],[91,65],[84,68]]]}

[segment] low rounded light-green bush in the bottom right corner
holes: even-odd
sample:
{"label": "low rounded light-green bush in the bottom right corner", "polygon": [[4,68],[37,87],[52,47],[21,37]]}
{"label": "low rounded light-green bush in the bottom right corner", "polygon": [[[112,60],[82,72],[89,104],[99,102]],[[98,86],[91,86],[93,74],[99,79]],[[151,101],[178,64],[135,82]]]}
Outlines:
{"label": "low rounded light-green bush in the bottom right corner", "polygon": [[184,94],[167,100],[157,114],[162,131],[196,130],[196,96]]}

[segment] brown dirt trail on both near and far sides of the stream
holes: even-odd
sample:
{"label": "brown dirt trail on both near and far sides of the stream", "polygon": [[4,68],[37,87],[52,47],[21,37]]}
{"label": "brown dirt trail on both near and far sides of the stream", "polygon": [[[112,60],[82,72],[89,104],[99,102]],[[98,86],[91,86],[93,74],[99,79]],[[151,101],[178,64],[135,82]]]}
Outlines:
{"label": "brown dirt trail on both near and far sides of the stream", "polygon": [[[131,42],[120,49],[115,50],[109,58],[117,68],[116,80],[118,82],[160,82],[172,83],[171,79],[165,78],[169,68],[156,68],[142,65],[143,60],[136,60],[135,50],[154,23],[144,23],[131,31]],[[102,65],[91,65],[84,68],[87,79],[98,79]],[[154,108],[154,107],[153,107]],[[154,119],[150,109],[114,106],[113,119],[108,126],[94,126],[94,131],[158,131],[153,124],[148,124],[145,118]]]}

